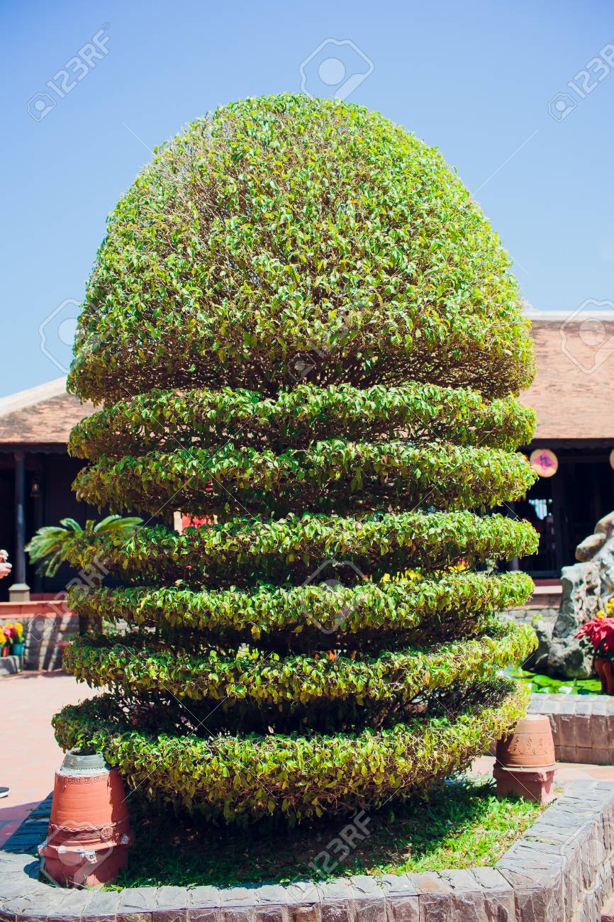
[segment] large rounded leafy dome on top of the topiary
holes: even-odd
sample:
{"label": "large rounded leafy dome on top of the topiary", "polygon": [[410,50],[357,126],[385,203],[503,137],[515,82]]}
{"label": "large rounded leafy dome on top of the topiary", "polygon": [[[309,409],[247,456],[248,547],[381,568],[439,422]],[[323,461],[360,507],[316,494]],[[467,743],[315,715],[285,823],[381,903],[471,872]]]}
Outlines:
{"label": "large rounded leafy dome on top of the topiary", "polygon": [[517,393],[528,323],[497,235],[437,150],[284,94],[177,136],[112,213],[69,386],[470,385]]}

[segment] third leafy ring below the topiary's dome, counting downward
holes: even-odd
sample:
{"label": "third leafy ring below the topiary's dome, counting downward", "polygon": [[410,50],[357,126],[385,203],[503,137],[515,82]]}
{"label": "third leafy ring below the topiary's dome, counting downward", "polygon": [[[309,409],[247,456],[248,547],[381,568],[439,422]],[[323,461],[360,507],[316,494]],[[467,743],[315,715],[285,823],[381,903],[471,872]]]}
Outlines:
{"label": "third leafy ring below the topiary's dome, counting downward", "polygon": [[493,514],[376,513],[344,517],[304,513],[286,518],[254,515],[219,525],[187,528],[145,526],[121,542],[84,535],[71,545],[78,567],[102,554],[112,573],[139,582],[177,579],[207,585],[296,583],[323,561],[351,561],[365,575],[408,568],[438,571],[535,553],[537,533],[528,522]]}

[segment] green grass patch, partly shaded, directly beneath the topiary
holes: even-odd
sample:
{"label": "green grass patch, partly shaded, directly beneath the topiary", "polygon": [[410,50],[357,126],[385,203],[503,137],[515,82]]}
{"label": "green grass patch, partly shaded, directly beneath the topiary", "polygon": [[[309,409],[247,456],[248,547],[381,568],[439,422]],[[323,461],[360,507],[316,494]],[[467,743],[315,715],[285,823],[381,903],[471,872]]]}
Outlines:
{"label": "green grass patch, partly shaded, directly beneath the topiary", "polygon": [[[292,830],[269,823],[232,831],[170,814],[151,815],[136,803],[130,809],[136,843],[129,868],[111,889],[322,880],[492,865],[543,808],[515,798],[498,800],[491,779],[463,779],[431,790],[428,797],[412,798],[394,812],[372,813],[364,819],[365,837],[353,849],[341,844],[327,848],[351,817]],[[326,850],[328,862],[318,858]],[[342,858],[339,853],[346,850]]]}

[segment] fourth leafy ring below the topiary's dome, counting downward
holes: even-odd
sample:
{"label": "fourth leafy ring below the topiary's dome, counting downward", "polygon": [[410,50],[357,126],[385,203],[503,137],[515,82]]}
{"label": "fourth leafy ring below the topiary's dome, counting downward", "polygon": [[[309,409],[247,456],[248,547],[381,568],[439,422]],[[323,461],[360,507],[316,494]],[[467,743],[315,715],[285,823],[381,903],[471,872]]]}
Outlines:
{"label": "fourth leafy ring below the topiary's dome, counting downward", "polygon": [[[328,649],[332,643],[362,646],[366,638],[394,644],[396,635],[411,632],[436,637],[469,631],[491,612],[522,605],[533,590],[526,573],[445,573],[436,579],[410,582],[324,583],[250,589],[187,589],[124,587],[70,590],[68,605],[89,618],[126,621],[132,625],[165,625],[197,631],[208,643],[227,637],[270,644],[280,638],[304,648]],[[194,644],[188,634],[185,644]],[[523,657],[524,658],[524,657]]]}

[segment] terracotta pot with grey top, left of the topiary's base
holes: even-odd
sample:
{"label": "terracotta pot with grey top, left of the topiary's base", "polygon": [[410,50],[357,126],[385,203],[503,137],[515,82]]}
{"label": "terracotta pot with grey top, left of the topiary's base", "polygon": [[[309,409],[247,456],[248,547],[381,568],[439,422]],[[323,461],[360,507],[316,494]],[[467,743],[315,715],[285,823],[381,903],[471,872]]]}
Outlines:
{"label": "terracotta pot with grey top, left of the topiary's base", "polygon": [[100,753],[67,752],[55,773],[49,832],[39,845],[45,873],[63,886],[100,886],[125,868],[132,841],[117,769]]}

